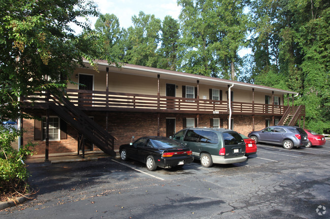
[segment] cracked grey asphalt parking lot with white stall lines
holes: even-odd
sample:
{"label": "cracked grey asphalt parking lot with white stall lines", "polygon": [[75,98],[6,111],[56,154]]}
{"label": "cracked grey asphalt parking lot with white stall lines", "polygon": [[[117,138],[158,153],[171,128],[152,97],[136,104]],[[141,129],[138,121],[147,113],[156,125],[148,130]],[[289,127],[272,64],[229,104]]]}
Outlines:
{"label": "cracked grey asphalt parking lot with white stall lines", "polygon": [[243,163],[148,171],[102,158],[31,163],[34,199],[1,218],[330,218],[330,141],[285,150],[258,144]]}

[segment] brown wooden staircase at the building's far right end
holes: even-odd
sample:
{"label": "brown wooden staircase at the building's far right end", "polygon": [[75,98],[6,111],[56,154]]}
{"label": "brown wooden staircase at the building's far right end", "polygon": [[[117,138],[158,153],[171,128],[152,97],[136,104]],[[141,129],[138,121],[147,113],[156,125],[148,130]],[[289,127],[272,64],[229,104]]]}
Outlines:
{"label": "brown wooden staircase at the building's far right end", "polygon": [[288,107],[285,111],[284,115],[282,116],[281,120],[279,121],[278,125],[292,125],[294,126],[298,119],[302,116],[305,116],[305,106],[293,106]]}

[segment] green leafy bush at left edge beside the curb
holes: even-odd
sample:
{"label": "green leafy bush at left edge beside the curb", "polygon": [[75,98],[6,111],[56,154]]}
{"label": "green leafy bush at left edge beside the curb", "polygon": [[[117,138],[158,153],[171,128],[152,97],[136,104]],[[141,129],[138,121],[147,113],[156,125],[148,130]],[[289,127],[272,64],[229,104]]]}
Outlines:
{"label": "green leafy bush at left edge beside the curb", "polygon": [[11,127],[0,125],[0,192],[1,194],[25,191],[29,173],[23,162],[26,155],[32,155],[28,143],[15,150],[11,144],[20,136],[20,132]]}

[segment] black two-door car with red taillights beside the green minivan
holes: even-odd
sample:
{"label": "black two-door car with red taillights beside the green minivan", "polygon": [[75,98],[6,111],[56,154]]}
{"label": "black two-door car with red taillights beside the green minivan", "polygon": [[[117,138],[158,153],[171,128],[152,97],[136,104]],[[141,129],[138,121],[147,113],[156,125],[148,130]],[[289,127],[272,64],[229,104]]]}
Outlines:
{"label": "black two-door car with red taillights beside the green minivan", "polygon": [[121,145],[119,153],[122,160],[130,158],[143,162],[151,171],[155,170],[157,166],[182,167],[193,161],[189,148],[165,137],[142,137],[133,143]]}

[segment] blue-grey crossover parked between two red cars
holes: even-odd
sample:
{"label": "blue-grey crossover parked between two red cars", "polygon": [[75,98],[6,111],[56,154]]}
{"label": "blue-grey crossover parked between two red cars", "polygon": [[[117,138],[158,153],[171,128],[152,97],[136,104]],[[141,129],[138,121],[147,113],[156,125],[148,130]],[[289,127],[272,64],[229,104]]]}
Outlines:
{"label": "blue-grey crossover parked between two red cars", "polygon": [[276,125],[269,126],[260,131],[250,132],[248,137],[255,143],[264,142],[282,145],[285,149],[305,147],[308,144],[307,134],[298,126]]}

